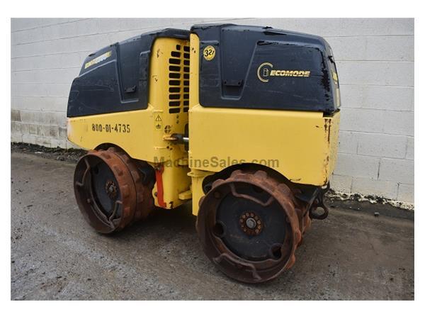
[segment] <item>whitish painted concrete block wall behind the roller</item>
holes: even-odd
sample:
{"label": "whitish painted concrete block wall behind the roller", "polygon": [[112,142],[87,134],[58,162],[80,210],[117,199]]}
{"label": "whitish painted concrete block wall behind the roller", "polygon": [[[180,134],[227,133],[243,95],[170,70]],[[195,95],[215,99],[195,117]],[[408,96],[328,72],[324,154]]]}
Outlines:
{"label": "whitish painted concrete block wall behind the roller", "polygon": [[12,142],[71,147],[67,97],[86,55],[149,30],[204,22],[273,26],[326,38],[342,101],[332,188],[413,203],[412,18],[13,18]]}

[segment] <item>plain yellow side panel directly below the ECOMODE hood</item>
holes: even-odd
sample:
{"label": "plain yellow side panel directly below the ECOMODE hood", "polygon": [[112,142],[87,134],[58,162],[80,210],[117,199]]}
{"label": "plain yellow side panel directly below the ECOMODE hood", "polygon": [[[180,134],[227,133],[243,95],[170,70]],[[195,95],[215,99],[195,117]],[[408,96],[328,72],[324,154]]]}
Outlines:
{"label": "plain yellow side panel directly below the ECOMODE hood", "polygon": [[271,167],[295,183],[322,186],[334,168],[339,113],[193,106],[191,169],[220,172],[241,162]]}

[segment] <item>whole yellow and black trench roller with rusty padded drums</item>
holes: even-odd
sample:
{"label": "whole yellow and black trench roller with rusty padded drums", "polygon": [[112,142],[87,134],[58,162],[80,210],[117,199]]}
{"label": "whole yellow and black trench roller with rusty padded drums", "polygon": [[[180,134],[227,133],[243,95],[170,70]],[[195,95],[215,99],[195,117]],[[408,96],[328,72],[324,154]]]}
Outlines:
{"label": "whole yellow and black trench roller with rusty padded drums", "polygon": [[196,25],[111,44],[69,93],[68,139],[88,150],[77,204],[109,234],[191,201],[212,264],[274,279],[329,213],[340,104],[334,55],[315,35]]}

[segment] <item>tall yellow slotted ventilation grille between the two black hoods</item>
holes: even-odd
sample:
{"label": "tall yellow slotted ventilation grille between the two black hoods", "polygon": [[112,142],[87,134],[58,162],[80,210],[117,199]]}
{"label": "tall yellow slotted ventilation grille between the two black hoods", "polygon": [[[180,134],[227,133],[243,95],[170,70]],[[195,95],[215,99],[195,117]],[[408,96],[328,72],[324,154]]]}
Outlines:
{"label": "tall yellow slotted ventilation grille between the two black hoods", "polygon": [[176,45],[169,58],[169,113],[189,109],[189,47]]}

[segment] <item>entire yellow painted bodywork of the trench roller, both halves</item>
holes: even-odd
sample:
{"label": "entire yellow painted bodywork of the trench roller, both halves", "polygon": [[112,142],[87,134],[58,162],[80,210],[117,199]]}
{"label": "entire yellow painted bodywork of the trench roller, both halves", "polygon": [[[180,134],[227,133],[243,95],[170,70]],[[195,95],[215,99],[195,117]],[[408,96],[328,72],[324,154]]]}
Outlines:
{"label": "entire yellow painted bodywork of the trench roller, both halves", "polygon": [[[169,57],[176,45],[190,45],[189,111],[169,113]],[[158,201],[155,184],[155,205],[174,208],[192,199],[194,215],[203,196],[203,179],[237,163],[269,167],[297,184],[327,184],[336,161],[339,112],[324,116],[310,111],[206,108],[199,103],[198,36],[192,34],[190,42],[158,38],[152,52],[147,108],[69,118],[71,142],[88,150],[116,145],[130,157],[163,169],[164,204]],[[188,151],[171,139],[174,133],[184,133],[187,124]]]}

